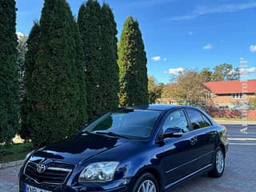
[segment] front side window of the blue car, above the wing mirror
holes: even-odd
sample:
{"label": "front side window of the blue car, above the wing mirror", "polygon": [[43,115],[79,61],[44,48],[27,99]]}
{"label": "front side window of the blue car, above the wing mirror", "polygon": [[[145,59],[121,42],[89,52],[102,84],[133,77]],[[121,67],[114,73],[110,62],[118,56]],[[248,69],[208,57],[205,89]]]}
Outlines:
{"label": "front side window of the blue car, above the wing mirror", "polygon": [[168,128],[181,128],[184,132],[189,131],[189,126],[186,121],[186,116],[183,110],[175,110],[166,118],[166,122],[162,126],[163,132]]}

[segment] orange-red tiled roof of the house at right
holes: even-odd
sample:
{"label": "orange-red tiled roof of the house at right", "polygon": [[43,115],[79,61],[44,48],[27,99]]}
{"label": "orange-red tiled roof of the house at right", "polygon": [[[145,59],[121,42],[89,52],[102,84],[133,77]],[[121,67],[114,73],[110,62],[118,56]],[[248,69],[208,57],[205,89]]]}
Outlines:
{"label": "orange-red tiled roof of the house at right", "polygon": [[[205,86],[214,94],[237,94],[242,93],[242,90],[244,90],[244,93],[256,93],[256,79],[247,81],[206,82]],[[243,89],[242,86],[244,86]]]}

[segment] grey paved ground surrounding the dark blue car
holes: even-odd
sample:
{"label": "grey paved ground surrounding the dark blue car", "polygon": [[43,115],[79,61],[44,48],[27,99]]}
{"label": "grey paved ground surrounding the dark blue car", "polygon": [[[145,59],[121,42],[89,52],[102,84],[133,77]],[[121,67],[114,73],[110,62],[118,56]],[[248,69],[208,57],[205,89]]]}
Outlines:
{"label": "grey paved ground surrounding the dark blue car", "polygon": [[[241,124],[225,126],[230,148],[222,178],[209,178],[203,174],[177,186],[172,192],[256,191],[256,125],[249,125],[247,130]],[[19,169],[20,166],[0,169],[0,192],[18,192]]]}

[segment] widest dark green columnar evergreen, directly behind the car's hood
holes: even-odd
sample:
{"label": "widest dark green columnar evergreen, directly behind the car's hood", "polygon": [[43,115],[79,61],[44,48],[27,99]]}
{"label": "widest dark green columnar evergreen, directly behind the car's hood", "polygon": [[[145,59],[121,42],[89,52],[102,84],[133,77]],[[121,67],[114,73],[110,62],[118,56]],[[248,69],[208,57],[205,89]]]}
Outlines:
{"label": "widest dark green columnar evergreen, directly behind the car's hood", "polygon": [[80,37],[66,0],[45,0],[40,26],[39,50],[31,75],[33,94],[27,98],[32,110],[27,123],[34,145],[75,134],[86,118],[86,114],[80,114],[80,107],[86,108],[80,106],[85,88],[78,77],[83,74],[76,47]]}

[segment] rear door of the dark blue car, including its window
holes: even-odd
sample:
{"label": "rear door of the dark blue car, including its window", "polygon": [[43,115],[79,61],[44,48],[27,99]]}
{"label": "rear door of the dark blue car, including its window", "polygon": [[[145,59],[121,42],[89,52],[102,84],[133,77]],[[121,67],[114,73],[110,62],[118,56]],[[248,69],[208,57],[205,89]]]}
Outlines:
{"label": "rear door of the dark blue car, including its window", "polygon": [[210,166],[214,158],[214,148],[218,139],[218,133],[214,130],[210,120],[200,110],[186,109],[190,118],[193,133],[196,137],[195,152],[197,170]]}

